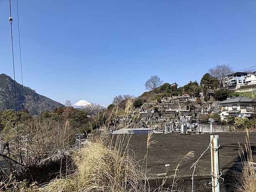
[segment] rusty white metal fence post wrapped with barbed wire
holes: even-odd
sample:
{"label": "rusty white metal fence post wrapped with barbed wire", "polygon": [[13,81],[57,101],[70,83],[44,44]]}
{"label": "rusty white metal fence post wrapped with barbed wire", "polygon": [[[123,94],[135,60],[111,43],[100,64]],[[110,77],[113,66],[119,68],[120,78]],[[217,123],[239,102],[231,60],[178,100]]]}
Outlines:
{"label": "rusty white metal fence post wrapped with barbed wire", "polygon": [[219,183],[219,153],[218,135],[210,135],[211,138],[211,185],[212,192],[220,192]]}

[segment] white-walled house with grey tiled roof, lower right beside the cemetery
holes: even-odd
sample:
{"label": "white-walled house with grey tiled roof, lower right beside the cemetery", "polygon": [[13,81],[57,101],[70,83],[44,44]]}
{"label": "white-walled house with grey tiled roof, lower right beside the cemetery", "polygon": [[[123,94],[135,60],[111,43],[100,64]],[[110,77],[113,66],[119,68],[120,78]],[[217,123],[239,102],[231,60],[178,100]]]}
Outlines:
{"label": "white-walled house with grey tiled roof, lower right beside the cemetery", "polygon": [[239,96],[220,102],[221,120],[228,116],[249,117],[256,112],[256,100],[250,97]]}

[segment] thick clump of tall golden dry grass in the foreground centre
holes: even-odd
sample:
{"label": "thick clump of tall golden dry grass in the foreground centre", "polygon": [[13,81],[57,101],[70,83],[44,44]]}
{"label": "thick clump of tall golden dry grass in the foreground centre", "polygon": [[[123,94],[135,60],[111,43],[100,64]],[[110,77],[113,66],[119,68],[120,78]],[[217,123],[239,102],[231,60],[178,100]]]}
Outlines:
{"label": "thick clump of tall golden dry grass in the foreground centre", "polygon": [[136,163],[102,140],[84,145],[72,155],[75,173],[52,180],[41,192],[138,192],[143,185]]}

